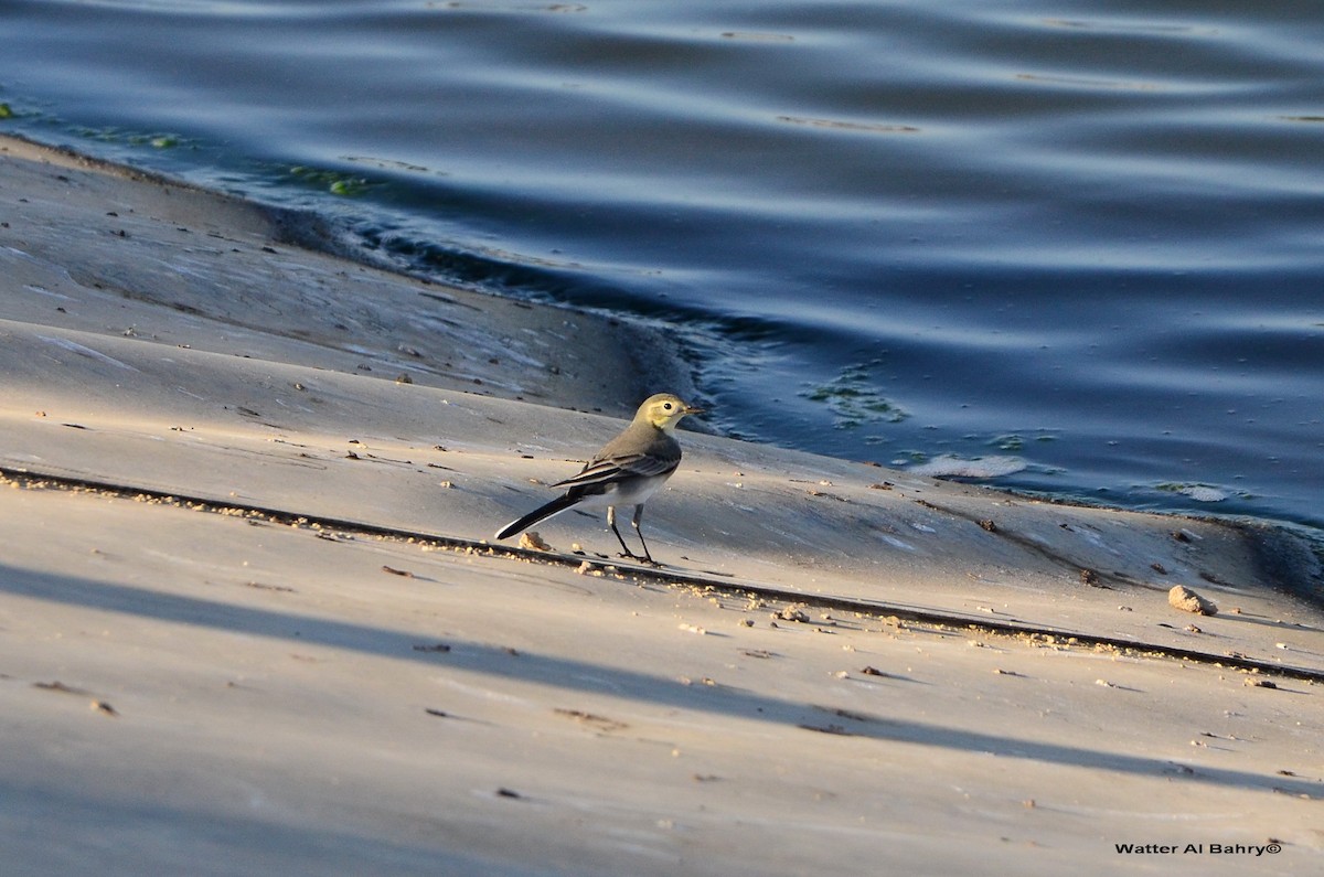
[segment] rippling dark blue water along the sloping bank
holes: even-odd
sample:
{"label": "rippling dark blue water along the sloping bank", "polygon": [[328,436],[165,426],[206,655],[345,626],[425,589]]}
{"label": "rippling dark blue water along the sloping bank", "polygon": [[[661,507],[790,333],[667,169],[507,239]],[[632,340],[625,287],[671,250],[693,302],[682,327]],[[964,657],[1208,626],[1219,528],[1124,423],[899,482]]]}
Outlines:
{"label": "rippling dark blue water along the sloping bank", "polygon": [[1324,7],[5,0],[8,130],[662,321],[712,424],[1324,527]]}

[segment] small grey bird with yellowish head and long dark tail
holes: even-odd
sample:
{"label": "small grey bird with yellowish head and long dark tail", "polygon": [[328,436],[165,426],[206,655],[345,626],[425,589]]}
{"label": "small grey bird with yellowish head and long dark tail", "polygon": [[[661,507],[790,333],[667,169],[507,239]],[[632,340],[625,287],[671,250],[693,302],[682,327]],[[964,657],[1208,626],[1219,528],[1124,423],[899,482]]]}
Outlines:
{"label": "small grey bird with yellowish head and long dark tail", "polygon": [[[567,511],[568,509],[606,507],[606,525],[612,527],[621,543],[620,556],[661,566],[653,559],[649,543],[643,541],[639,521],[643,518],[643,503],[666,484],[671,473],[681,465],[681,442],[675,438],[675,425],[687,415],[703,413],[674,393],[649,396],[634,413],[634,420],[593,458],[584,464],[579,474],[559,481],[552,488],[565,488],[565,493],[547,505],[534,509],[523,518],[511,521],[496,531],[496,539],[506,539],[522,533],[540,521]],[[625,538],[616,527],[617,506],[634,506],[634,533],[643,546],[643,555],[637,555],[625,544]]]}

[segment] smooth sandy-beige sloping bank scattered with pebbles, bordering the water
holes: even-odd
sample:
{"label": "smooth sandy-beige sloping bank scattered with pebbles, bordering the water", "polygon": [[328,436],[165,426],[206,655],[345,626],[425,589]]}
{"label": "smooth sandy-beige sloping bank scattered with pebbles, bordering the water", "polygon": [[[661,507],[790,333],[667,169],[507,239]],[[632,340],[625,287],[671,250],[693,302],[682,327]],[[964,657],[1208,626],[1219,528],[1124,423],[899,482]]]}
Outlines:
{"label": "smooth sandy-beige sloping bank scattered with pebbles, bordering the water", "polygon": [[573,513],[549,552],[495,544],[641,397],[692,392],[665,333],[0,150],[13,873],[1319,861],[1291,534],[682,432],[661,571]]}

